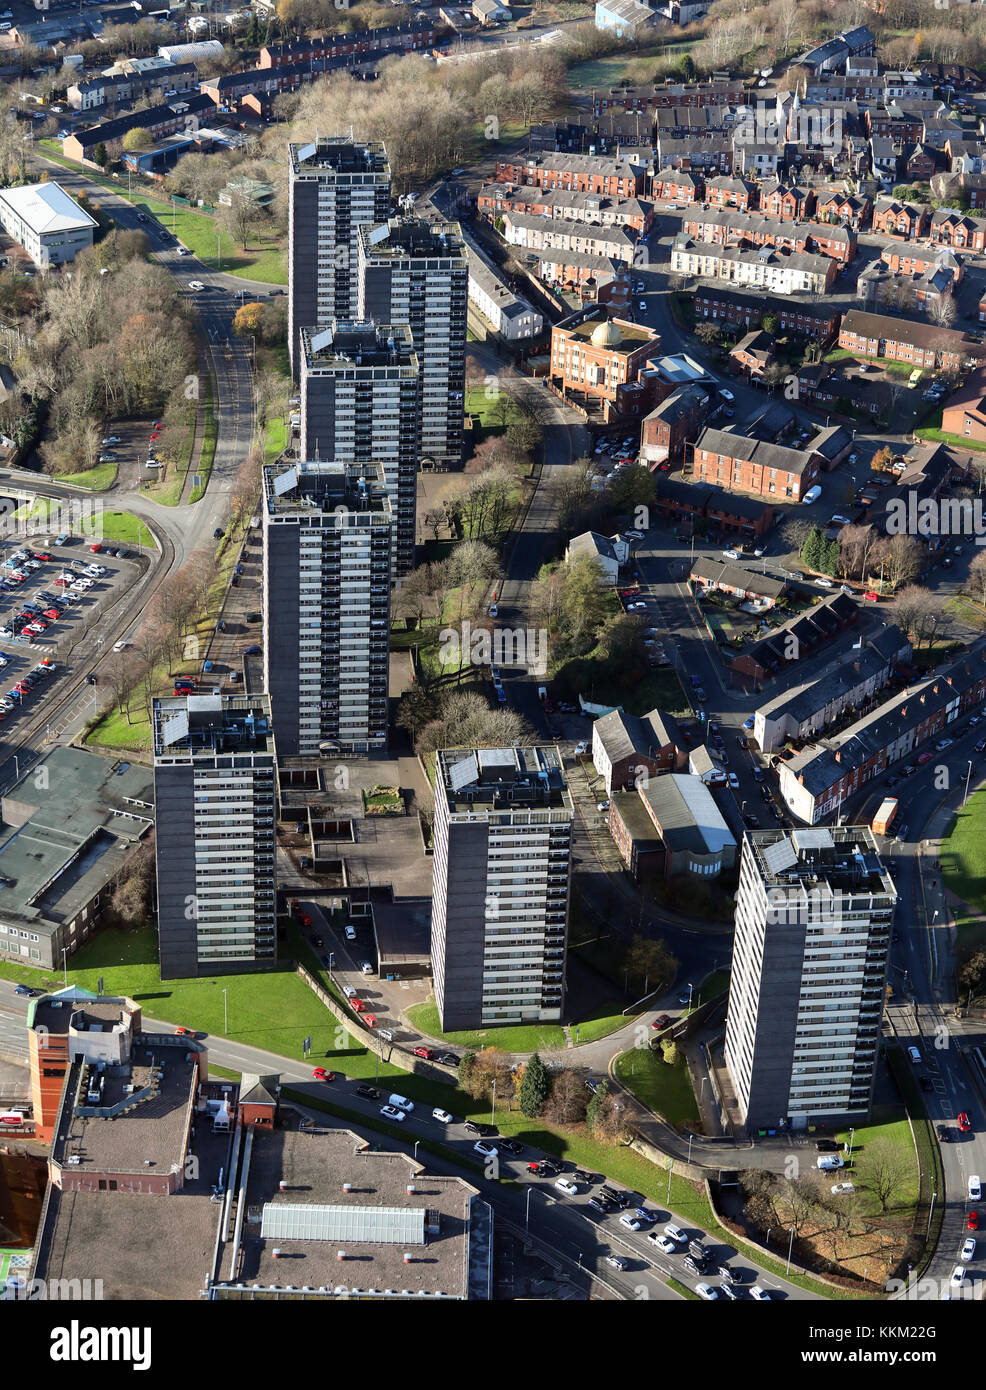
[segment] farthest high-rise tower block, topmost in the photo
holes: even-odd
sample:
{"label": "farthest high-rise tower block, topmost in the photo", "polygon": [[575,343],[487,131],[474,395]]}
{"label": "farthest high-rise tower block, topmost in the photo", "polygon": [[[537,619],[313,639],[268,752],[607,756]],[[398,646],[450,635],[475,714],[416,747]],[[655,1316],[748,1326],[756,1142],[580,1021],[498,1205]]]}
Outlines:
{"label": "farthest high-rise tower block, topmost in the photo", "polygon": [[289,145],[288,342],[295,377],[299,334],[355,318],[357,234],[391,211],[391,167],[378,140],[318,139]]}

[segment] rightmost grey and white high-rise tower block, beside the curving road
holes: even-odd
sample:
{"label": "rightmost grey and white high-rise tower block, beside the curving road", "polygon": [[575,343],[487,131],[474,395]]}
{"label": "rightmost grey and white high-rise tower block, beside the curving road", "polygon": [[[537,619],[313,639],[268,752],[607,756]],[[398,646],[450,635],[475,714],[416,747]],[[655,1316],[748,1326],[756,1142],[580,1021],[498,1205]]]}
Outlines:
{"label": "rightmost grey and white high-rise tower block, beside the curving road", "polygon": [[748,1129],[869,1113],[896,903],[865,826],[747,833],[726,1063]]}

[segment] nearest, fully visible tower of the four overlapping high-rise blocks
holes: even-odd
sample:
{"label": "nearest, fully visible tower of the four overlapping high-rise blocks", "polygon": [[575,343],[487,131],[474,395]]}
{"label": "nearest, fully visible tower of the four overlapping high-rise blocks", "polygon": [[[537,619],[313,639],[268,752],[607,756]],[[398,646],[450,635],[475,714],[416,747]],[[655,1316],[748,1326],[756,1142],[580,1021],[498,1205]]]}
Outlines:
{"label": "nearest, fully visible tower of the four overlapping high-rise blocks", "polygon": [[263,470],[264,685],[280,756],[387,748],[392,509],[382,470]]}

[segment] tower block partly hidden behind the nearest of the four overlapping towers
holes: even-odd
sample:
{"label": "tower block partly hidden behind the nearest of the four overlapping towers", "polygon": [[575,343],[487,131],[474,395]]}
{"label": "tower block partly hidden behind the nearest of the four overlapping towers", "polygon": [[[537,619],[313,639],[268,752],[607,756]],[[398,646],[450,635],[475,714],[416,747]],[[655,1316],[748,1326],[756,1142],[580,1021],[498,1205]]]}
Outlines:
{"label": "tower block partly hidden behind the nearest of the four overlapping towers", "polygon": [[394,575],[414,564],[420,361],[407,324],[302,329],[300,457],[380,464],[394,509]]}

